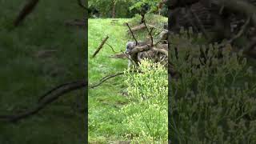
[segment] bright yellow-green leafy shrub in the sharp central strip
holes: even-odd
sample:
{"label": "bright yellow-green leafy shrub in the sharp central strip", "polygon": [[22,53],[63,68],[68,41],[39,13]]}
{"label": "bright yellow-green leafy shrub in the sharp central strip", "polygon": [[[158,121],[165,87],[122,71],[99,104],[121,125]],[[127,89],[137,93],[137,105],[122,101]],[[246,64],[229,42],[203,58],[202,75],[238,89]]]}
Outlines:
{"label": "bright yellow-green leafy shrub in the sharp central strip", "polygon": [[159,63],[148,60],[139,66],[142,73],[126,70],[126,85],[130,103],[122,107],[126,115],[123,126],[128,130],[126,138],[133,142],[166,142],[167,121],[167,70]]}

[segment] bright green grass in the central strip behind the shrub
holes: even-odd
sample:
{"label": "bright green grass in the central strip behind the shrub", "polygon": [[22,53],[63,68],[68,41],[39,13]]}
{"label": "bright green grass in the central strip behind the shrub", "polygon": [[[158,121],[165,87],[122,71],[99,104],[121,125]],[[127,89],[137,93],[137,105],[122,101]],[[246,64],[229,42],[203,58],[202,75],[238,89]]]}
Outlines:
{"label": "bright green grass in the central strip behind the shrub", "polygon": [[[132,20],[132,21],[131,21]],[[89,19],[88,51],[89,51],[89,83],[94,84],[108,74],[122,72],[127,68],[127,59],[110,58],[115,51],[126,49],[126,42],[134,41],[127,34],[127,27],[124,22],[135,23],[136,19]],[[154,24],[166,22],[166,18],[156,18]],[[95,58],[92,58],[94,51],[98,48],[102,39],[108,35],[110,38],[107,44]],[[136,34],[138,39],[144,40],[146,34],[141,31]],[[126,128],[121,122],[125,115],[119,113],[119,109],[128,102],[126,96],[126,86],[123,84],[124,78],[116,77],[102,84],[95,89],[89,90],[89,142],[107,143],[125,140],[123,138]]]}

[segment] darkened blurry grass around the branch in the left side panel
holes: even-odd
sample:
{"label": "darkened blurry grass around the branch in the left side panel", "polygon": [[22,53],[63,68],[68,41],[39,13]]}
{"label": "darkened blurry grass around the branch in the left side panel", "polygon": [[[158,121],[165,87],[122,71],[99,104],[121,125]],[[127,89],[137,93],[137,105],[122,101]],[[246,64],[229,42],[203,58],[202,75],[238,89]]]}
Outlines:
{"label": "darkened blurry grass around the branch in the left side panel", "polygon": [[[59,84],[85,78],[85,30],[65,22],[84,17],[75,1],[40,1],[15,30],[11,22],[26,1],[0,1],[0,114],[36,105]],[[45,50],[55,50],[40,56]],[[39,55],[38,55],[39,54]],[[0,122],[1,144],[84,143],[85,91],[78,90],[18,123]]]}

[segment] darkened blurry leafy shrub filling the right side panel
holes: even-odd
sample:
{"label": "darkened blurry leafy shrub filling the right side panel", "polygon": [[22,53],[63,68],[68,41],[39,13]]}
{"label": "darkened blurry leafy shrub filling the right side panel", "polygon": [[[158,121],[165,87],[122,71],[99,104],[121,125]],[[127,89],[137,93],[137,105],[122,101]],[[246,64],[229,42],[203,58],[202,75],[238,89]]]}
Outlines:
{"label": "darkened blurry leafy shrub filling the right side panel", "polygon": [[253,68],[242,51],[217,43],[198,46],[192,35],[184,30],[170,35],[170,62],[180,74],[170,82],[172,142],[255,143]]}

